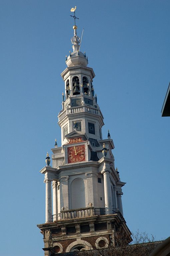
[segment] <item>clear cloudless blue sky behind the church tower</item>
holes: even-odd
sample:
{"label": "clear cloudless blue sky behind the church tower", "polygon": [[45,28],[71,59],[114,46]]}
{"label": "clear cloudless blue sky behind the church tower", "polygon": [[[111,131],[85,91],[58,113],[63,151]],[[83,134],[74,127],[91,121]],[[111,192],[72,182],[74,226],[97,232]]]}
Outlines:
{"label": "clear cloudless blue sky behind the church tower", "polygon": [[[169,236],[170,117],[161,117],[170,55],[170,1],[1,0],[1,246],[5,256],[43,255],[46,152],[61,145],[61,110],[77,6],[81,51],[110,130],[129,229]],[[51,153],[50,153],[51,156]]]}

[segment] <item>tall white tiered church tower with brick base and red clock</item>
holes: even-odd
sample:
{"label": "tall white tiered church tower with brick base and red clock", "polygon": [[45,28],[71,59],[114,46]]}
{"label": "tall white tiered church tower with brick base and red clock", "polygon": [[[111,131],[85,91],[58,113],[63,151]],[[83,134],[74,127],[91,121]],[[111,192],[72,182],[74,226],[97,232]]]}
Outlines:
{"label": "tall white tiered church tower with brick base and red clock", "polygon": [[[121,227],[129,237],[123,218],[121,196],[125,185],[114,166],[113,140],[102,137],[103,114],[94,93],[92,68],[80,51],[77,26],[71,38],[73,52],[66,56],[61,73],[65,84],[58,115],[61,147],[52,148],[52,167],[47,153],[45,175],[46,218],[37,225],[44,253],[112,247]],[[64,89],[64,86],[63,86]]]}

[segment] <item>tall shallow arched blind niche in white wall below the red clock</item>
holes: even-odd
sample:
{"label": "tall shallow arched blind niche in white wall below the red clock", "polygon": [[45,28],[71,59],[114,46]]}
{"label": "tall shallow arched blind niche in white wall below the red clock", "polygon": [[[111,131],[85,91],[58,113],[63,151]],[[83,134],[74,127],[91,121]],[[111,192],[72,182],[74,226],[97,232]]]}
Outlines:
{"label": "tall shallow arched blind niche in white wall below the red clock", "polygon": [[77,178],[71,183],[71,209],[86,207],[84,181]]}

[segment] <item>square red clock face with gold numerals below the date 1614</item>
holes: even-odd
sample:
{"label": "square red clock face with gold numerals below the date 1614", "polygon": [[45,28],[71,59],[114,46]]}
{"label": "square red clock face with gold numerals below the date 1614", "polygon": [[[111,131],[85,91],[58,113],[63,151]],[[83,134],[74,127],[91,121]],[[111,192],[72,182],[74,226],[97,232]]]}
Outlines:
{"label": "square red clock face with gold numerals below the date 1614", "polygon": [[85,161],[85,146],[72,146],[67,148],[68,163]]}

